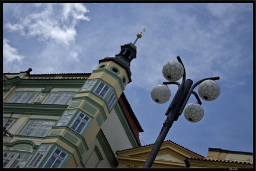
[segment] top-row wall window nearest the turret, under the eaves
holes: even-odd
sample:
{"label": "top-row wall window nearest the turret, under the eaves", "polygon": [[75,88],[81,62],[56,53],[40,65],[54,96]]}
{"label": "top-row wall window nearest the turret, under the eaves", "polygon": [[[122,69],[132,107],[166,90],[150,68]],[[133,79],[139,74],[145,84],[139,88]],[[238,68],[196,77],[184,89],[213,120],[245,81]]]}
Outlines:
{"label": "top-row wall window nearest the turret, under the eaves", "polygon": [[68,105],[76,93],[52,92],[45,104]]}

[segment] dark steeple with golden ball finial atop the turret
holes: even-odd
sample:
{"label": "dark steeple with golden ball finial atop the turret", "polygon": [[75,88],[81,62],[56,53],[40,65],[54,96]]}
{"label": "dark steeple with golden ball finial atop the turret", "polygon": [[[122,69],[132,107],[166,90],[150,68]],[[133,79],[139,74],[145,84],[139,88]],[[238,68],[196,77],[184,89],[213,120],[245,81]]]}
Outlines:
{"label": "dark steeple with golden ball finial atop the turret", "polygon": [[107,60],[115,60],[117,63],[126,67],[129,76],[132,76],[132,73],[130,72],[130,62],[136,58],[137,47],[135,46],[135,43],[139,38],[142,38],[143,31],[146,31],[145,28],[137,34],[137,38],[133,43],[127,43],[121,46],[119,54],[116,54],[115,57],[105,57],[103,60],[100,60],[100,63]]}

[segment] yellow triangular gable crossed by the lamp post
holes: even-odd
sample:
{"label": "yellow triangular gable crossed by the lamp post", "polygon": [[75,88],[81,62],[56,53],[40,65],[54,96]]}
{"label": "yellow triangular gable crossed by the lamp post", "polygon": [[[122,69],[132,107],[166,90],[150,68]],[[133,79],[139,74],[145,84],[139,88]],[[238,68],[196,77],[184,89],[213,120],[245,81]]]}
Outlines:
{"label": "yellow triangular gable crossed by the lamp post", "polygon": [[[119,167],[143,167],[152,147],[153,144],[150,144],[148,146],[117,151]],[[204,158],[199,154],[193,153],[193,151],[173,143],[172,141],[165,141],[162,144],[152,167],[184,167],[184,159],[186,159],[186,157]]]}

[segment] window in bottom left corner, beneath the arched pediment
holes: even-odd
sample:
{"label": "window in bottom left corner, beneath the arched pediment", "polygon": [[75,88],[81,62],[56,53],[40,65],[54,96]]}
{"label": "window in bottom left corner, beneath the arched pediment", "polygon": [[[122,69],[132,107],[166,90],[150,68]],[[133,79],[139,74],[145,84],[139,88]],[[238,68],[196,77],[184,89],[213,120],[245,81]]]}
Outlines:
{"label": "window in bottom left corner, beneath the arched pediment", "polygon": [[3,154],[3,167],[21,168],[27,163],[31,154],[7,153]]}

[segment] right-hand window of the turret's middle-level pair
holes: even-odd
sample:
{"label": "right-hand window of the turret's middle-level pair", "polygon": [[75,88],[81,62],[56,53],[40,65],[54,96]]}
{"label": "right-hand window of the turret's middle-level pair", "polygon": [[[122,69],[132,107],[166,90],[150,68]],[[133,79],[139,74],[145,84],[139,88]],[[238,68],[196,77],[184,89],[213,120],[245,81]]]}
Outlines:
{"label": "right-hand window of the turret's middle-level pair", "polygon": [[90,118],[87,115],[80,112],[73,124],[71,125],[71,128],[76,132],[81,133],[88,124],[89,120]]}

